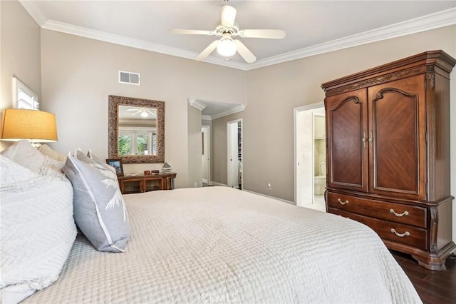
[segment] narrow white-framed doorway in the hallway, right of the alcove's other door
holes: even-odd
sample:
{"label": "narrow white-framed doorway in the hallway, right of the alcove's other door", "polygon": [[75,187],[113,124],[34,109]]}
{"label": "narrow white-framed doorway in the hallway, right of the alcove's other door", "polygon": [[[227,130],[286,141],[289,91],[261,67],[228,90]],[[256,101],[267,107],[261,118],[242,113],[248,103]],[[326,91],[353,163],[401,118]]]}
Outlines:
{"label": "narrow white-framed doorway in the hallway, right of the alcove's other door", "polygon": [[242,189],[242,118],[227,122],[227,186]]}

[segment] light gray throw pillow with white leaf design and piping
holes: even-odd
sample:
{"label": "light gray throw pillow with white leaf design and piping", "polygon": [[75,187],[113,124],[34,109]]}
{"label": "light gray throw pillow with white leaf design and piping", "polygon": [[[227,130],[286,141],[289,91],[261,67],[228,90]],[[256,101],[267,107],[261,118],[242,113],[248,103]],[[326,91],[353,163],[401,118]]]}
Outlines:
{"label": "light gray throw pillow with white leaf design and piping", "polygon": [[62,171],[73,184],[76,225],[90,243],[100,251],[125,251],[130,224],[113,171],[69,155]]}

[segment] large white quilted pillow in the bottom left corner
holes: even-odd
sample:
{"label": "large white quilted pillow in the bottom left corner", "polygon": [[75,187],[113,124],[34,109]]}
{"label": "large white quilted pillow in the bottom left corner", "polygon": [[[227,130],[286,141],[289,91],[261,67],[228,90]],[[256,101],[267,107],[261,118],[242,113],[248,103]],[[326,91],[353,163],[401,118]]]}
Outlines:
{"label": "large white quilted pillow in the bottom left corner", "polygon": [[18,303],[57,280],[76,238],[73,188],[0,155],[3,303]]}

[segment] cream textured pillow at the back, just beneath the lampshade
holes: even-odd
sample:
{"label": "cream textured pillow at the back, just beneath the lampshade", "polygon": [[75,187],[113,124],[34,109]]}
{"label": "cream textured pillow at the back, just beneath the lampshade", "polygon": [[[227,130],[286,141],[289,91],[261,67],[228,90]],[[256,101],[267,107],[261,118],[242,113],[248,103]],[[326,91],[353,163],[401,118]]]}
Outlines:
{"label": "cream textured pillow at the back, just beneath the lampshade", "polygon": [[64,178],[61,172],[64,163],[43,155],[26,140],[17,141],[1,151],[1,155],[43,176]]}

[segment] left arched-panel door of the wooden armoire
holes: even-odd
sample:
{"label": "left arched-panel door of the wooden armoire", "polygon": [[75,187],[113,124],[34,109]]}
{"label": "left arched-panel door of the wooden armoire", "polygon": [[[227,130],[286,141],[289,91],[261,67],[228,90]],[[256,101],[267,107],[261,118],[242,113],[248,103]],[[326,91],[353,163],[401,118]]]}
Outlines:
{"label": "left arched-panel door of the wooden armoire", "polygon": [[[366,89],[326,98],[328,186],[367,191]],[[363,141],[364,138],[364,141]]]}

